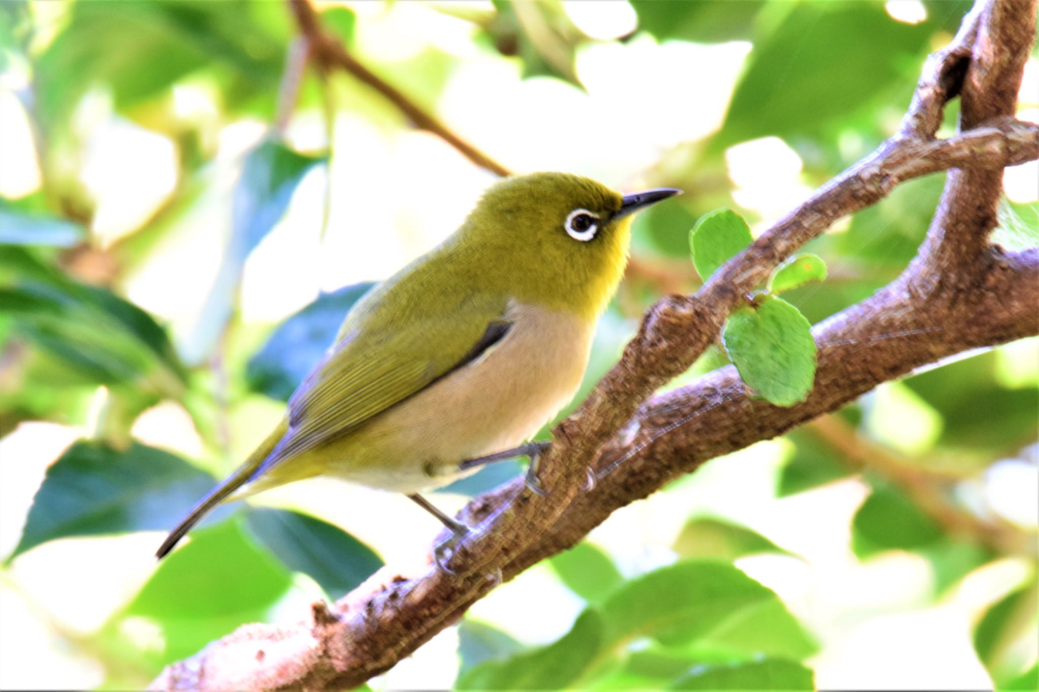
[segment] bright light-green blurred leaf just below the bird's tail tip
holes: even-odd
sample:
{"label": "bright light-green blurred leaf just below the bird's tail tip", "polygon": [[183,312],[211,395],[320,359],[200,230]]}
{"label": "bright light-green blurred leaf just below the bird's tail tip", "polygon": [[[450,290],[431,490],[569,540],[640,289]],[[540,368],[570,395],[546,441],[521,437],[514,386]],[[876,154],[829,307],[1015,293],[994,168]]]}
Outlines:
{"label": "bright light-green blurred leaf just below the bird's tail tip", "polygon": [[[239,625],[264,620],[289,590],[292,576],[252,545],[236,520],[191,532],[170,553],[124,612],[152,620],[164,646],[148,652],[158,664],[183,659]],[[129,643],[128,643],[129,646]]]}

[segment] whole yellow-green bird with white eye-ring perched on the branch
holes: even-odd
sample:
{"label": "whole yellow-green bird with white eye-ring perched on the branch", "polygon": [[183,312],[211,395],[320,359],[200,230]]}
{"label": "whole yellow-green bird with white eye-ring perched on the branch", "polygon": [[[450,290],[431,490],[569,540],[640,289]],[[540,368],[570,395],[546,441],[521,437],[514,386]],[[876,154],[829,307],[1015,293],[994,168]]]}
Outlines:
{"label": "whole yellow-green bird with white eye-ring perched on the branch", "polygon": [[441,564],[467,527],[418,493],[517,455],[531,458],[538,490],[544,445],[516,445],[581,383],[623,275],[632,213],[678,192],[622,196],[566,173],[491,186],[457,231],[353,306],[282,422],[156,555],[232,496],[327,475],[432,513],[454,533]]}

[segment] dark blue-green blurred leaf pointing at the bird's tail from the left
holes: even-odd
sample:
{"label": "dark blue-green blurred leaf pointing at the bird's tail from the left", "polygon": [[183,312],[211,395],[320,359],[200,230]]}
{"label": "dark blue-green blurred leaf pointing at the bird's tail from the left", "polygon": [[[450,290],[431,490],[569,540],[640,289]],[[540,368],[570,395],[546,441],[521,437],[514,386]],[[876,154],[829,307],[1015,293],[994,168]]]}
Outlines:
{"label": "dark blue-green blurred leaf pointing at the bird's tail from the left", "polygon": [[47,469],[8,559],[55,538],[171,528],[213,483],[161,449],[77,442]]}

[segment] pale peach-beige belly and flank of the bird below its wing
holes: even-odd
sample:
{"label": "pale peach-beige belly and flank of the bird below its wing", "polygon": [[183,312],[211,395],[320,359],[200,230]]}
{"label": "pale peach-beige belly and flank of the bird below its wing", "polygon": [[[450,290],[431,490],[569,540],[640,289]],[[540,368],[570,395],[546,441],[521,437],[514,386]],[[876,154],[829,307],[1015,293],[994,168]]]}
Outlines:
{"label": "pale peach-beige belly and flank of the bird below its wing", "polygon": [[464,473],[458,463],[530,439],[574,396],[594,326],[513,306],[513,325],[479,359],[324,446],[342,460],[323,473],[415,493]]}

